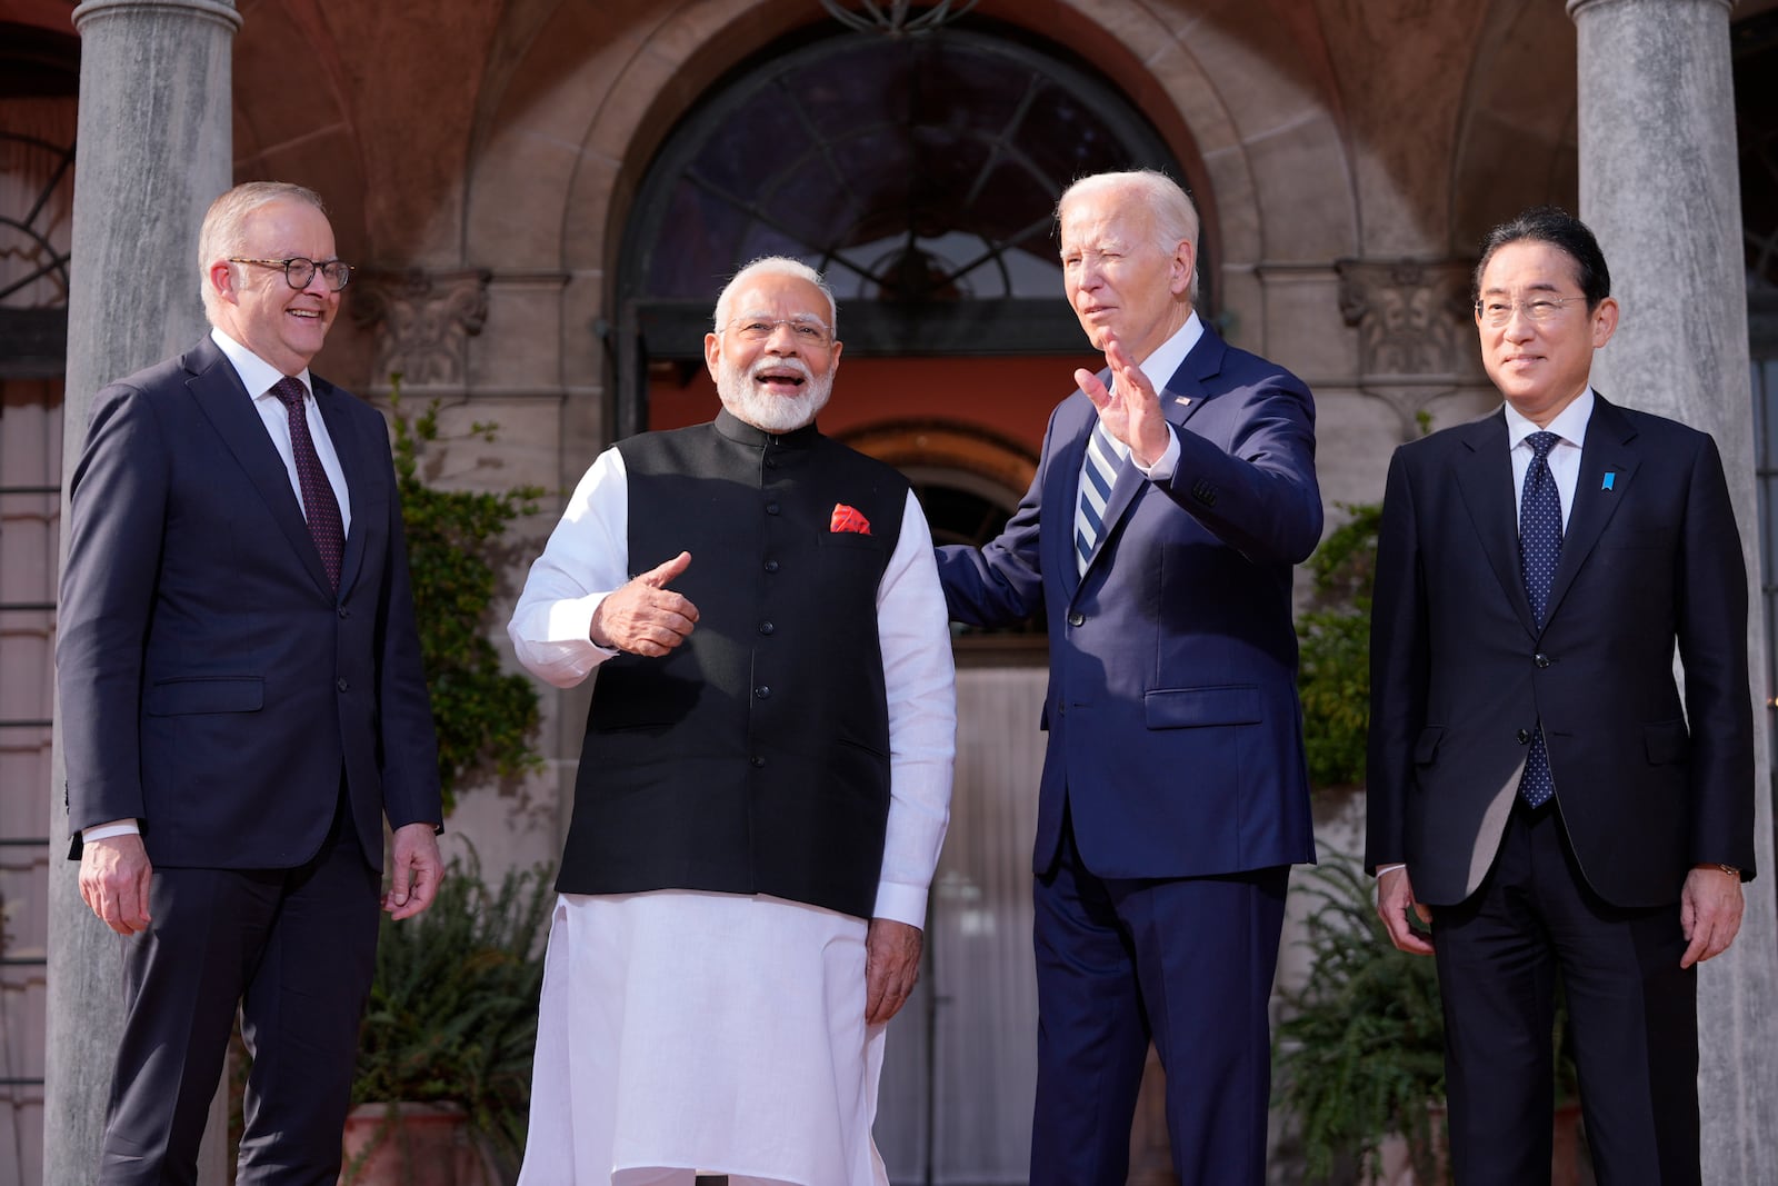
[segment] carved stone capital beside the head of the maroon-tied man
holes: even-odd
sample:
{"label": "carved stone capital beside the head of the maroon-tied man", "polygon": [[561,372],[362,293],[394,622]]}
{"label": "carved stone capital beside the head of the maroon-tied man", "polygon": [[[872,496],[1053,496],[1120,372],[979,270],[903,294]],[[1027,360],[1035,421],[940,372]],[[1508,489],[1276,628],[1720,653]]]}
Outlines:
{"label": "carved stone capital beside the head of the maroon-tied man", "polygon": [[352,277],[352,320],[375,334],[372,375],[407,384],[461,386],[469,338],[487,322],[491,272],[366,272]]}

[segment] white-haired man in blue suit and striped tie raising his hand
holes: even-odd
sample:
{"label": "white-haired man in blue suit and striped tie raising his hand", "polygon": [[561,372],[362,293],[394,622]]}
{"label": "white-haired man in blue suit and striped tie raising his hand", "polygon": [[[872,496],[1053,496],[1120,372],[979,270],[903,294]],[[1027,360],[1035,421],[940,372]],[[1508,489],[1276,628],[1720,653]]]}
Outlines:
{"label": "white-haired man in blue suit and striped tie raising his hand", "polygon": [[1179,185],[1092,176],[1056,217],[1108,370],[1074,373],[1001,537],[939,549],[955,619],[1049,624],[1031,1182],[1124,1182],[1152,1038],[1179,1181],[1257,1184],[1285,882],[1314,859],[1291,624],[1314,404],[1193,311]]}

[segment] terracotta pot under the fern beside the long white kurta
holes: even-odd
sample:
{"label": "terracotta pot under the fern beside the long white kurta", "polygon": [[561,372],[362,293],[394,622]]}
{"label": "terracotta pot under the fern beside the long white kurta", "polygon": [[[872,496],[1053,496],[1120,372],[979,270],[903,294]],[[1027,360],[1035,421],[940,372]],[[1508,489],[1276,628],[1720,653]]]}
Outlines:
{"label": "terracotta pot under the fern beside the long white kurta", "polygon": [[[393,1111],[391,1111],[393,1110]],[[359,1104],[340,1186],[496,1186],[457,1104]]]}

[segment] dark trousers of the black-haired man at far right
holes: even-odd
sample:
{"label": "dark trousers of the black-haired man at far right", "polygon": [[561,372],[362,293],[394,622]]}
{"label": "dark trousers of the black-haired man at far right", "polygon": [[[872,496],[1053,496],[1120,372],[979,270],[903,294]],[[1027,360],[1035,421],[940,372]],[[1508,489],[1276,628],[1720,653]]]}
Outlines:
{"label": "dark trousers of the black-haired man at far right", "polygon": [[1550,1174],[1556,980],[1600,1186],[1698,1168],[1698,978],[1678,903],[1623,910],[1581,873],[1561,811],[1520,800],[1481,889],[1433,916],[1458,1186]]}

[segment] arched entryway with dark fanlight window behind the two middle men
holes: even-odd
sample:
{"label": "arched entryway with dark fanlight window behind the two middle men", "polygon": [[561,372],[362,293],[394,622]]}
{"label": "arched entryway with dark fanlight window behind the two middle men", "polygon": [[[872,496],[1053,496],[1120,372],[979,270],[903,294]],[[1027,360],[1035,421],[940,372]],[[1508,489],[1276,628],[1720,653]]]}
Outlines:
{"label": "arched entryway with dark fanlight window behind the two middle men", "polygon": [[[752,258],[797,256],[832,283],[846,343],[821,427],[901,468],[937,539],[985,542],[1074,368],[1097,363],[1061,299],[1056,197],[1127,167],[1189,180],[1115,85],[1022,32],[823,28],[763,48],[688,108],[637,190],[610,340],[617,436],[708,420],[717,290]],[[896,1182],[1010,1184],[1028,1174],[1035,1081],[1042,631],[958,637],[958,667],[951,830],[877,1138]]]}

